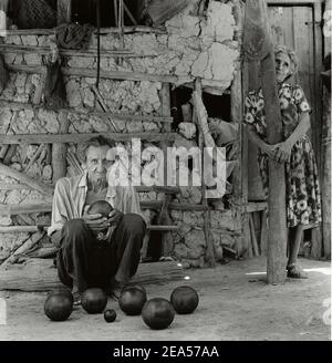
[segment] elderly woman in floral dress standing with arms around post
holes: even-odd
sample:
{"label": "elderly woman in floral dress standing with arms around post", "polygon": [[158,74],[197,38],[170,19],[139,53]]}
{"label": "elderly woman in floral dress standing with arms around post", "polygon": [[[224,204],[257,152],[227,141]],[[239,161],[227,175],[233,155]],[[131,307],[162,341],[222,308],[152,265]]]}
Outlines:
{"label": "elderly woman in floral dress standing with arms around post", "polygon": [[286,206],[289,229],[288,277],[307,278],[298,266],[298,252],[303,227],[321,221],[321,198],[318,168],[310,138],[311,108],[301,86],[286,83],[297,73],[298,62],[293,51],[278,46],[276,79],[282,117],[283,142],[267,143],[267,124],[262,90],[249,92],[246,98],[245,123],[249,138],[259,147],[258,163],[266,196],[269,187],[268,158],[286,163]]}

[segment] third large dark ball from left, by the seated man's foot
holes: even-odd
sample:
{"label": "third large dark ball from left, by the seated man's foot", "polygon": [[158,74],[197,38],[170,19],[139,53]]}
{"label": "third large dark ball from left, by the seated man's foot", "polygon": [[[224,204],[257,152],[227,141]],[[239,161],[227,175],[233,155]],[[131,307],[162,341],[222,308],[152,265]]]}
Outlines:
{"label": "third large dark ball from left, by the seated man's foot", "polygon": [[123,289],[118,298],[120,309],[127,315],[139,315],[146,302],[145,289],[127,287]]}

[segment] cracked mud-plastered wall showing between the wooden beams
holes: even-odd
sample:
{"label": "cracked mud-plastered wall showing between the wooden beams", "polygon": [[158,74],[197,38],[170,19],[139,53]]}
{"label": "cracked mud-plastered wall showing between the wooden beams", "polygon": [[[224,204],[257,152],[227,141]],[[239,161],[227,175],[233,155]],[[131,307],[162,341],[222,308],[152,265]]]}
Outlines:
{"label": "cracked mud-plastered wall showing between the wooden beams", "polygon": [[[234,17],[232,1],[210,1],[204,17],[197,15],[198,1],[193,1],[187,9],[166,23],[166,32],[132,33],[124,35],[124,48],[134,55],[125,56],[122,62],[114,56],[103,56],[101,69],[104,71],[126,71],[147,74],[173,75],[177,77],[176,85],[203,79],[203,85],[212,86],[219,92],[231,85],[239,58],[239,45],[236,39],[237,20]],[[52,35],[8,35],[8,44],[45,46],[52,45]],[[121,49],[118,34],[107,33],[101,37],[102,50]],[[91,50],[96,46],[96,37],[91,40]],[[43,65],[45,56],[37,52],[4,53],[7,64]],[[96,70],[96,56],[69,55],[62,58],[62,65],[70,69]],[[0,110],[1,134],[56,134],[61,117],[69,117],[70,133],[103,133],[112,127],[105,118],[91,115],[91,111],[101,111],[91,86],[95,77],[65,76],[65,90],[69,106],[84,115],[63,113],[44,108],[21,108],[7,105]],[[11,72],[6,89],[0,93],[0,100],[8,102],[31,103],[35,90],[41,86],[41,74]],[[162,115],[162,83],[157,81],[116,81],[101,79],[100,93],[110,112],[131,115]],[[115,121],[122,133],[160,132],[162,124],[156,122]],[[191,129],[189,134],[186,134]],[[180,145],[193,145],[195,142],[195,125],[185,127],[181,132]],[[189,138],[190,142],[188,142]],[[186,144],[187,143],[187,144]],[[188,144],[189,143],[189,144]],[[71,145],[75,152],[76,145]],[[52,185],[51,145],[45,146],[39,158],[32,164],[39,145],[18,145],[9,160],[9,166],[27,174],[44,184]],[[69,175],[71,169],[69,168]],[[18,180],[0,175],[0,183],[12,185],[14,189],[0,190],[0,204],[35,204],[51,203],[51,197],[31,190]],[[141,194],[142,200],[157,200],[163,196],[156,193]],[[179,197],[179,196],[176,196]],[[199,188],[187,188],[180,200],[200,204]],[[204,234],[204,212],[173,210],[174,224],[180,226],[173,232],[173,257],[184,262],[186,267],[203,267],[205,265],[206,240]],[[153,214],[145,211],[147,221]],[[50,214],[34,214],[25,217],[0,218],[1,226],[23,225],[27,218],[32,224],[48,222]],[[222,246],[236,249],[240,226],[231,210],[215,210],[211,212],[211,231],[217,260],[222,259]],[[0,260],[9,256],[29,234],[0,234]]]}

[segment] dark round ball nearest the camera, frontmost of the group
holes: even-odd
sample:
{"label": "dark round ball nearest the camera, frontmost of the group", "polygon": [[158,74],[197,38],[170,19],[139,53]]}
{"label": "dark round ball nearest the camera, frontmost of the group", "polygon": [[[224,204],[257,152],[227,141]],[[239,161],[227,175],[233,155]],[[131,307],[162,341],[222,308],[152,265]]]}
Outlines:
{"label": "dark round ball nearest the camera, frontmost of the group", "polygon": [[172,303],[163,298],[148,300],[142,310],[142,319],[147,326],[154,330],[168,328],[175,317]]}

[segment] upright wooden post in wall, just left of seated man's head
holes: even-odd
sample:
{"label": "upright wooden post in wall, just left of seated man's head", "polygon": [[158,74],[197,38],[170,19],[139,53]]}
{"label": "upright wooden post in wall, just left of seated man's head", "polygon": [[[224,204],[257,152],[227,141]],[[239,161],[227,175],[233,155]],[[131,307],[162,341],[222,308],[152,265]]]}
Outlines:
{"label": "upright wooden post in wall, just left of seated man's head", "polygon": [[[66,134],[70,126],[68,114],[60,112],[59,122],[59,134]],[[56,143],[52,146],[52,168],[53,183],[66,175],[66,145],[63,143]]]}

